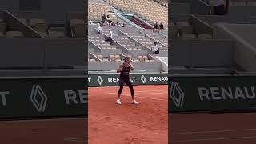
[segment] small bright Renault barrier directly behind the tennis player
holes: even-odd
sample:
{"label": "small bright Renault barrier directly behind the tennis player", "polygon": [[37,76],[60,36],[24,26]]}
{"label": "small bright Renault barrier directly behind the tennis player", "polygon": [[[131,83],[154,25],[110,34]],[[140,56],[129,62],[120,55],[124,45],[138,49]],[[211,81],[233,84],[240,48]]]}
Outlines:
{"label": "small bright Renault barrier directly behind the tennis player", "polygon": [[[130,74],[133,85],[167,85],[167,74]],[[118,86],[119,74],[90,74],[89,87]]]}

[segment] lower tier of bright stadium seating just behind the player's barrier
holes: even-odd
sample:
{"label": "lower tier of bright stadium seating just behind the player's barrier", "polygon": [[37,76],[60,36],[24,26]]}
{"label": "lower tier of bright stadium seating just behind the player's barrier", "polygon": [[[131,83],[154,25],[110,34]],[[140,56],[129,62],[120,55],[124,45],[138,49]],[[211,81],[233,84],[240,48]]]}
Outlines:
{"label": "lower tier of bright stadium seating just behind the player's barrier", "polygon": [[[134,64],[138,63],[139,66],[136,66],[137,69],[140,67],[145,70],[153,70],[153,71],[161,71],[160,63],[155,62],[154,60],[154,53],[151,50],[151,47],[146,47],[144,42],[151,42],[151,46],[154,46],[154,41],[150,39],[150,32],[147,30],[139,30],[137,28],[131,27],[110,27],[110,30],[114,33],[113,43],[106,42],[107,32],[109,27],[102,26],[102,35],[96,33],[97,25],[89,25],[89,57],[88,62],[90,66],[90,71],[94,70],[101,70],[109,71],[115,69],[120,62],[123,61],[123,58],[126,56],[130,57]],[[129,33],[129,31],[133,31],[135,33]],[[151,30],[150,30],[151,31]],[[144,33],[142,33],[144,32]],[[146,35],[148,37],[146,37]],[[146,39],[144,40],[135,40],[137,37],[134,35],[142,36],[143,38],[139,39]],[[158,35],[151,35],[153,38],[157,38]],[[159,36],[160,38],[160,36]],[[159,41],[160,42],[160,41]],[[162,47],[162,46],[160,46]],[[160,53],[167,54],[167,51],[161,51]],[[150,55],[149,55],[150,54]],[[153,68],[150,63],[154,62]],[[104,63],[110,65],[109,67],[102,66]],[[141,64],[139,64],[141,63]],[[144,63],[144,64],[143,64]],[[102,66],[100,69],[98,66]],[[105,68],[104,68],[105,67]],[[143,69],[143,70],[144,70]],[[136,71],[136,70],[135,70]]]}

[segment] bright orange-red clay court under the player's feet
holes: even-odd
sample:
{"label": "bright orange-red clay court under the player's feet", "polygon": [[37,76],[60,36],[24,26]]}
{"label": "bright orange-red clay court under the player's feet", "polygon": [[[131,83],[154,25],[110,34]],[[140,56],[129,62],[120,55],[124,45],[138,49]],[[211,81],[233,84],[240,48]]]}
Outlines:
{"label": "bright orange-red clay court under the player's feet", "polygon": [[118,86],[90,87],[90,144],[151,144],[168,142],[168,86],[134,86],[138,105],[124,87],[122,105],[115,104]]}

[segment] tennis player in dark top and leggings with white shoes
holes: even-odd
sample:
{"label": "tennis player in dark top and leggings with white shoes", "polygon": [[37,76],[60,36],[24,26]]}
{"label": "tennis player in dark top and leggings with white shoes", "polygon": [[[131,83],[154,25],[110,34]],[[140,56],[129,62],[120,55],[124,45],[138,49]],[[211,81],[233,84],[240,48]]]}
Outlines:
{"label": "tennis player in dark top and leggings with white shoes", "polygon": [[119,104],[119,105],[121,104],[120,96],[122,94],[122,89],[123,89],[124,83],[126,83],[126,85],[130,89],[132,103],[138,104],[138,102],[136,102],[136,100],[134,99],[134,87],[133,87],[132,83],[130,82],[130,76],[129,76],[130,70],[134,70],[134,66],[131,63],[130,57],[126,57],[125,62],[122,63],[117,70],[117,72],[120,73],[120,77],[119,77],[120,88],[118,90],[118,100],[116,101],[117,104]]}

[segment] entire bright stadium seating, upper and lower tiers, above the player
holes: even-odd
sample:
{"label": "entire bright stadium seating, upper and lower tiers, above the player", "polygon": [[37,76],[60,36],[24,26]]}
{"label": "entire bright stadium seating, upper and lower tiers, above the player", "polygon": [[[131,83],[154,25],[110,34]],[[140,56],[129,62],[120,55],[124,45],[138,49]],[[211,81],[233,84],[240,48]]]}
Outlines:
{"label": "entire bright stadium seating, upper and lower tiers, above the player", "polygon": [[[130,18],[122,19],[123,17],[117,16],[118,14],[111,10],[111,6],[123,13],[137,14],[138,17],[144,20],[146,18],[151,24],[162,22],[164,26],[167,26],[167,8],[164,6],[166,3],[164,1],[154,2],[153,0],[133,1],[134,3],[120,0],[104,1],[89,1],[89,71],[110,72],[115,70],[125,57],[130,57],[136,67],[135,72],[141,70],[161,72],[161,62],[157,61],[155,56],[166,57],[168,54],[167,30],[162,34],[153,33],[152,29],[138,29],[127,21]],[[135,8],[133,7],[134,4],[137,5]],[[150,10],[155,11],[155,13],[148,14]],[[109,15],[110,20],[126,23],[126,26],[102,26],[102,34],[97,34],[98,22],[102,21],[102,14],[104,13]],[[111,43],[106,41],[109,29],[113,32]],[[160,54],[158,55],[155,55],[153,51],[154,42],[158,42],[160,47]]]}

